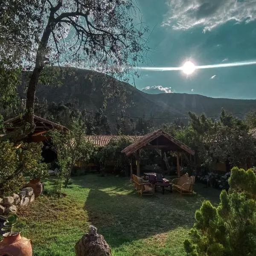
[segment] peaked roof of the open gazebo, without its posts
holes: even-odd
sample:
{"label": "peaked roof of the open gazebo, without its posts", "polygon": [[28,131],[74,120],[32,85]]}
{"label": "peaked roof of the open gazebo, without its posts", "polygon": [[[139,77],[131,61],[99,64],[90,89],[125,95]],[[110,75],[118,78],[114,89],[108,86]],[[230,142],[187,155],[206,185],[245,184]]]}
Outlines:
{"label": "peaked roof of the open gazebo, without its posts", "polygon": [[128,156],[140,148],[159,148],[166,151],[183,151],[192,155],[195,154],[195,151],[167,134],[162,129],[141,137],[136,142],[123,149],[122,153]]}

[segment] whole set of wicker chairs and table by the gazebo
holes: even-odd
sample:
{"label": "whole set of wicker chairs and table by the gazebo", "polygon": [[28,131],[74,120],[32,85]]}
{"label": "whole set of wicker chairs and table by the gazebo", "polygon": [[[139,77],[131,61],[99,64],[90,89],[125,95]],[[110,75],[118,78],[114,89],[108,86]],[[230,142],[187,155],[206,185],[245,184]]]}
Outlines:
{"label": "whole set of wicker chairs and table by the gazebo", "polygon": [[193,184],[195,183],[195,176],[190,176],[185,173],[180,178],[175,178],[171,182],[163,177],[162,174],[145,172],[144,177],[132,175],[134,182],[134,189],[138,194],[153,195],[157,191],[157,187],[162,189],[164,194],[165,190],[172,192],[172,189],[182,194],[193,194]]}

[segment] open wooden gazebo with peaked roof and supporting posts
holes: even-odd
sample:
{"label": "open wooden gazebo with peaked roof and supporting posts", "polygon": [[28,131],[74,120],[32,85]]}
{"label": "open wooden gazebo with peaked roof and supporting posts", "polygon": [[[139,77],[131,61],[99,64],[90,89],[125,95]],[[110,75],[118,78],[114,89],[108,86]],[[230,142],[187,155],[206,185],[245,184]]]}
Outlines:
{"label": "open wooden gazebo with peaked roof and supporting posts", "polygon": [[175,151],[177,152],[177,175],[180,177],[180,160],[179,152],[186,152],[190,155],[194,155],[195,151],[190,149],[188,146],[175,139],[171,135],[164,132],[162,129],[154,131],[141,137],[139,140],[129,145],[121,152],[127,156],[131,156],[131,177],[132,177],[132,154],[136,152],[137,161],[137,176],[140,176],[140,149],[141,148],[155,148],[161,150],[161,156],[163,160],[164,151]]}

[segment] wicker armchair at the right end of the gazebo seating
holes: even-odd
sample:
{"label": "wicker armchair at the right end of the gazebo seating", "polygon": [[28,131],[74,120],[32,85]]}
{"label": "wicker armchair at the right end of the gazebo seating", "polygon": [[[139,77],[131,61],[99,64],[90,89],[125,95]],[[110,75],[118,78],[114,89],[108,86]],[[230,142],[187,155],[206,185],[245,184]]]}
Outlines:
{"label": "wicker armchair at the right end of the gazebo seating", "polygon": [[195,183],[195,176],[190,176],[185,173],[180,178],[172,180],[172,189],[177,190],[182,194],[193,194],[193,184]]}

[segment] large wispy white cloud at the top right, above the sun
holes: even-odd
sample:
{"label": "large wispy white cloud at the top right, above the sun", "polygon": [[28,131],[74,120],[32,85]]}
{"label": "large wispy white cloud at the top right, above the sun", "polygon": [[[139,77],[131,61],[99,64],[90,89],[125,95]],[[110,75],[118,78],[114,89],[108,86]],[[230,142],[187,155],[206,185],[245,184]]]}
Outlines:
{"label": "large wispy white cloud at the top right, above the sun", "polygon": [[204,26],[204,31],[234,20],[237,23],[256,20],[255,0],[167,0],[169,7],[162,26],[190,29]]}

